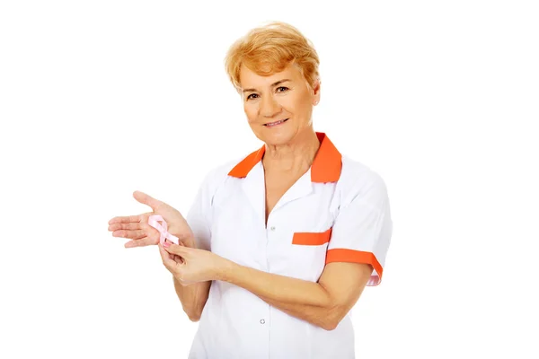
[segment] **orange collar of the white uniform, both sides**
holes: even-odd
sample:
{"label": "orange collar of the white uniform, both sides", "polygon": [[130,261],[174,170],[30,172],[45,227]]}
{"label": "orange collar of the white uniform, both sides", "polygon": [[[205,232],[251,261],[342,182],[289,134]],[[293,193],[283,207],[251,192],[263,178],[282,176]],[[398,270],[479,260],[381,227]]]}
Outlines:
{"label": "orange collar of the white uniform, both sides", "polygon": [[[319,183],[336,182],[340,178],[342,156],[323,132],[316,132],[316,136],[320,141],[320,148],[318,148],[311,166],[311,181]],[[264,144],[261,149],[249,154],[242,162],[236,164],[232,171],[228,172],[228,175],[240,179],[247,177],[254,165],[261,161],[265,152],[266,145]]]}

